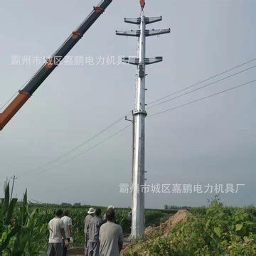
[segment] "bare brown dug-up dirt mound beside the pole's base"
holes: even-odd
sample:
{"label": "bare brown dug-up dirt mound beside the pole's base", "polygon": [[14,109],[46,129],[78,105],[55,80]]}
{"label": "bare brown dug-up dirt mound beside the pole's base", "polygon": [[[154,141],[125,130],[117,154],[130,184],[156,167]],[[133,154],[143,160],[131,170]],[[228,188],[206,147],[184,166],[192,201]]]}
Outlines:
{"label": "bare brown dug-up dirt mound beside the pole's base", "polygon": [[[150,239],[155,235],[159,236],[166,236],[168,235],[169,231],[174,228],[175,225],[181,224],[188,218],[188,215],[191,213],[188,210],[178,210],[178,212],[171,216],[166,222],[161,223],[158,227],[149,227],[145,230],[145,238]],[[121,255],[127,255],[127,253],[132,251],[132,255],[136,252],[138,255],[145,255],[147,256],[147,252],[142,252],[142,245],[132,245],[128,244],[125,246],[124,250],[122,250]]]}

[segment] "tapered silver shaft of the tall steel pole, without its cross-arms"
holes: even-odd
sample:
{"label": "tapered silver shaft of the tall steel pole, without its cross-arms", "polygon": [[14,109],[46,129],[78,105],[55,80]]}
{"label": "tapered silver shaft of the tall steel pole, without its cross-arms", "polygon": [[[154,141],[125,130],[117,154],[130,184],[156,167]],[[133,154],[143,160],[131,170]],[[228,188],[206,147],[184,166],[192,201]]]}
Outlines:
{"label": "tapered silver shaft of the tall steel pole, without its cross-arms", "polygon": [[132,238],[141,238],[144,234],[145,196],[142,191],[145,171],[145,21],[141,17],[139,36],[139,65],[137,68],[136,102],[134,110],[134,166],[132,193]]}

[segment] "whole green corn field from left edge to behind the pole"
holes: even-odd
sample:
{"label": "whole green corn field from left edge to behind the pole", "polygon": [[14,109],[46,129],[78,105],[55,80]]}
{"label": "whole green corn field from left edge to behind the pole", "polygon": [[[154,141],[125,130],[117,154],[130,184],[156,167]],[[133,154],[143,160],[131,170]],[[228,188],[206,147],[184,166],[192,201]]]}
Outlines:
{"label": "whole green corn field from left edge to behind the pole", "polygon": [[[28,203],[27,192],[23,201],[10,198],[9,184],[4,188],[0,205],[0,255],[46,255],[48,244],[47,225],[56,210],[70,210],[73,219],[73,247],[84,245],[84,223],[87,210],[92,206],[56,206]],[[101,208],[105,213],[106,208]],[[146,225],[159,224],[171,211],[146,210]],[[115,209],[117,223],[122,225],[124,234],[130,232],[129,209]]]}

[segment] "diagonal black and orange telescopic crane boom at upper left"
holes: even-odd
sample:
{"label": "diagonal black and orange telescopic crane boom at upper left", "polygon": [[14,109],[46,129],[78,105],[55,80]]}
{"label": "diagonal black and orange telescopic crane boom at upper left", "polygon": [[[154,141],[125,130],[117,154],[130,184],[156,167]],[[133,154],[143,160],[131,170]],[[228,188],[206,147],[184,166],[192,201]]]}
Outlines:
{"label": "diagonal black and orange telescopic crane boom at upper left", "polygon": [[84,36],[87,30],[92,26],[97,18],[107,9],[111,4],[112,0],[102,0],[97,6],[93,7],[92,12],[82,21],[81,25],[71,33],[68,39],[63,43],[53,55],[46,60],[46,63],[28,80],[23,89],[18,91],[18,95],[11,101],[6,109],[0,113],[0,131],[4,129],[6,124],[11,120],[12,117],[21,109],[21,107],[28,101],[38,87],[43,83],[46,78],[58,67],[60,61],[63,60],[65,55],[75,46],[78,41]]}

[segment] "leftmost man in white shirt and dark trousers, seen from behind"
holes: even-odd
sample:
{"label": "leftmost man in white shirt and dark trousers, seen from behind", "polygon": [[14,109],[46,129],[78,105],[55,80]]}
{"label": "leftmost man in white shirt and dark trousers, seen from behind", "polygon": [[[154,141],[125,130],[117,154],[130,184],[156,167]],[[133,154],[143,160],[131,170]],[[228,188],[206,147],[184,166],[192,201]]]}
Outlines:
{"label": "leftmost man in white shirt and dark trousers, seen from behind", "polygon": [[63,215],[62,210],[57,210],[55,218],[48,223],[49,243],[48,243],[48,256],[63,256],[63,240],[65,246],[68,246],[68,240],[65,237],[64,223],[60,220]]}

